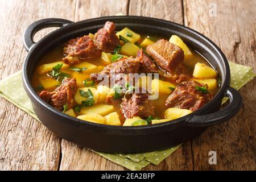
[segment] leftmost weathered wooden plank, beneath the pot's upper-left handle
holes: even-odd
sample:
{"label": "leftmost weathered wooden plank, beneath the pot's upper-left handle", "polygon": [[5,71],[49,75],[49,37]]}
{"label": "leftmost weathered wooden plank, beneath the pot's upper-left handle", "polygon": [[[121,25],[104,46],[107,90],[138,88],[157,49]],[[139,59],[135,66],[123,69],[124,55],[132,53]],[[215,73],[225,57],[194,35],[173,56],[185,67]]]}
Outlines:
{"label": "leftmost weathered wooden plank, beneath the pot's upper-left handle", "polygon": [[[31,8],[32,7],[32,8]],[[22,68],[27,52],[22,34],[32,22],[42,18],[73,20],[75,1],[1,1],[0,7],[0,78]],[[69,12],[69,13],[67,13]],[[37,39],[52,29],[40,31]],[[61,140],[24,111],[0,98],[0,169],[56,170]]]}

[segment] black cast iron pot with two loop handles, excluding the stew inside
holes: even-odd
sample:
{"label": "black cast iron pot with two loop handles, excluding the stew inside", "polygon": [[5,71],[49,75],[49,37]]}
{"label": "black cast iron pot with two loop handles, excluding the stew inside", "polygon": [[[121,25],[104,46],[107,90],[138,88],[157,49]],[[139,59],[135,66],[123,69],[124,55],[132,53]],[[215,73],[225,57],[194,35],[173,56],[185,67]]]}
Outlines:
{"label": "black cast iron pot with two loop handles, excluding the stew inside", "polygon": [[[63,114],[38,97],[30,81],[39,60],[56,46],[71,38],[96,32],[106,21],[116,24],[117,30],[129,27],[135,32],[146,32],[170,38],[180,36],[190,47],[200,52],[217,70],[222,80],[216,96],[201,109],[171,122],[148,126],[109,126],[82,121]],[[60,27],[38,43],[33,36],[42,28]],[[238,113],[242,105],[240,93],[231,88],[229,64],[224,53],[199,32],[166,20],[142,16],[106,16],[73,23],[65,19],[42,19],[32,23],[24,32],[24,47],[28,51],[23,66],[23,85],[40,121],[59,137],[103,152],[146,152],[180,144],[203,132],[208,126],[224,122]],[[223,97],[230,103],[220,110]]]}

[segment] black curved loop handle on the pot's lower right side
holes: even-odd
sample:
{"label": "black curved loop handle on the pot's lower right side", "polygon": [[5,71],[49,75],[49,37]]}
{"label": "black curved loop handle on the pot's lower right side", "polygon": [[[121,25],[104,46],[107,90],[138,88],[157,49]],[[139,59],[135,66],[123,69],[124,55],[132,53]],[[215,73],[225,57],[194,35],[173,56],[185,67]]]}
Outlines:
{"label": "black curved loop handle on the pot's lower right side", "polygon": [[236,89],[229,87],[226,89],[224,97],[229,97],[230,100],[229,105],[224,109],[207,115],[193,115],[191,118],[188,118],[187,121],[185,121],[184,126],[211,126],[234,117],[234,115],[236,115],[242,107],[241,94]]}

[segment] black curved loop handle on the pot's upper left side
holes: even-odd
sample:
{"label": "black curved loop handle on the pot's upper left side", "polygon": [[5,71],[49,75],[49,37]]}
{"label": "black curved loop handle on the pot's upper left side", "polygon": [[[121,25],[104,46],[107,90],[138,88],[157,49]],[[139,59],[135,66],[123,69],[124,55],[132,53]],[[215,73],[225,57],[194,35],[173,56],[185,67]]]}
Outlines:
{"label": "black curved loop handle on the pot's upper left side", "polygon": [[39,30],[42,30],[43,28],[48,28],[48,27],[63,27],[69,23],[73,23],[73,22],[67,19],[46,18],[30,24],[30,26],[27,27],[27,29],[24,31],[24,34],[23,34],[24,47],[26,48],[27,51],[29,51],[30,48],[34,46],[35,42],[33,41],[33,38],[36,32],[38,32]]}

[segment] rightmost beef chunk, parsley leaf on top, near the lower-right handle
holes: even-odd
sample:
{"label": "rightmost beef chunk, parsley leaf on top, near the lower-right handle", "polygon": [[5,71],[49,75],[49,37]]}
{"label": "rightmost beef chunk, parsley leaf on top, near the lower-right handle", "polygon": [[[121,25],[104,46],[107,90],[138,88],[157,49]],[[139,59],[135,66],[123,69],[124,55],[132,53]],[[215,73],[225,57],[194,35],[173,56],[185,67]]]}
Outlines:
{"label": "rightmost beef chunk, parsley leaf on top, near the lower-right handle", "polygon": [[184,81],[177,85],[174,92],[167,98],[166,106],[195,111],[207,104],[212,99],[212,94],[202,93],[196,90],[196,86],[208,88],[208,85],[200,84],[197,81]]}

